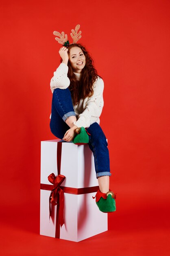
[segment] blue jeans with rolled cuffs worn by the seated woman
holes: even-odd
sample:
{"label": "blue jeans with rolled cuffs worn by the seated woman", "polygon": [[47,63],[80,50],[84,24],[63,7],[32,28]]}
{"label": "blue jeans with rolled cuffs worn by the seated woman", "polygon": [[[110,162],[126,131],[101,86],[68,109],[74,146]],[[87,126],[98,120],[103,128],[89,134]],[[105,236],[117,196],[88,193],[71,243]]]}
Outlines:
{"label": "blue jeans with rolled cuffs worn by the seated woman", "polygon": [[[70,129],[65,123],[70,116],[76,116],[70,90],[68,88],[55,89],[52,95],[50,130],[57,138],[62,139],[65,132]],[[90,134],[88,144],[94,155],[96,178],[111,176],[108,144],[102,128],[95,122],[86,130]]]}

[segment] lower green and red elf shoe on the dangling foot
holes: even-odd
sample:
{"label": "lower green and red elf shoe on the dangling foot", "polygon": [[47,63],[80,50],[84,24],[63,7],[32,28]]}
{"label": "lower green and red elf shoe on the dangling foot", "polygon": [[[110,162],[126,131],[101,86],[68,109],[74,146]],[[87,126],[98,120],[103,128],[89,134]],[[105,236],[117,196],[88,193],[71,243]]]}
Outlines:
{"label": "lower green and red elf shoe on the dangling foot", "polygon": [[96,198],[96,204],[100,211],[104,213],[116,211],[116,194],[114,194],[110,189],[107,193],[102,193],[98,190],[93,198]]}

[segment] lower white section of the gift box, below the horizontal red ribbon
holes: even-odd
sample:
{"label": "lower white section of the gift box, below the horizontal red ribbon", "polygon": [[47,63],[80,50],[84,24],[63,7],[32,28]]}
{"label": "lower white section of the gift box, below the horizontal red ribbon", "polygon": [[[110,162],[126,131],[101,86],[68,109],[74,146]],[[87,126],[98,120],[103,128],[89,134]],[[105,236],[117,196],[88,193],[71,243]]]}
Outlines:
{"label": "lower white section of the gift box, below the horizontal red ribbon", "polygon": [[[40,234],[55,237],[56,206],[52,207],[52,219],[49,221],[50,191],[41,190]],[[107,213],[99,211],[95,193],[74,195],[64,193],[64,225],[60,227],[60,238],[81,241],[107,231]]]}

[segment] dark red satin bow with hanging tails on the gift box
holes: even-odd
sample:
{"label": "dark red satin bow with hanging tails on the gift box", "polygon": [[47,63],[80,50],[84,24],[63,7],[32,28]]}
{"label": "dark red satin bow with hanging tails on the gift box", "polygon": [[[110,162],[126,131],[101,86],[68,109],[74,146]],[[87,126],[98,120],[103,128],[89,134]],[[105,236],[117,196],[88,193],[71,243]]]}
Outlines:
{"label": "dark red satin bow with hanging tails on the gift box", "polygon": [[60,188],[61,183],[64,181],[65,176],[59,174],[55,177],[54,173],[51,173],[48,176],[49,182],[51,182],[54,186],[49,197],[49,210],[51,217],[51,204],[57,205],[59,207],[59,224],[62,227],[64,224],[64,191]]}

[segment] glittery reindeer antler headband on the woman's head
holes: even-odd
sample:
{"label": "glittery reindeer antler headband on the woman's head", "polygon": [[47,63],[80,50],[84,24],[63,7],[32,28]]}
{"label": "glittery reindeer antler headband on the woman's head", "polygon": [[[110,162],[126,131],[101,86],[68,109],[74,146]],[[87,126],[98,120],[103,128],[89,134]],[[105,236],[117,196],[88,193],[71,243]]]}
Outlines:
{"label": "glittery reindeer antler headband on the woman's head", "polygon": [[[72,39],[73,39],[73,43],[77,43],[77,41],[81,38],[81,31],[78,32],[78,29],[80,28],[80,25],[76,25],[75,30],[72,29],[72,33],[70,33]],[[78,33],[77,33],[78,32]],[[54,31],[53,34],[55,36],[59,36],[55,37],[55,40],[57,40],[60,44],[63,44],[63,46],[68,47],[68,45],[70,45],[69,41],[68,41],[68,36],[67,34],[65,34],[64,36],[64,32],[61,32],[61,34],[57,31]]]}

